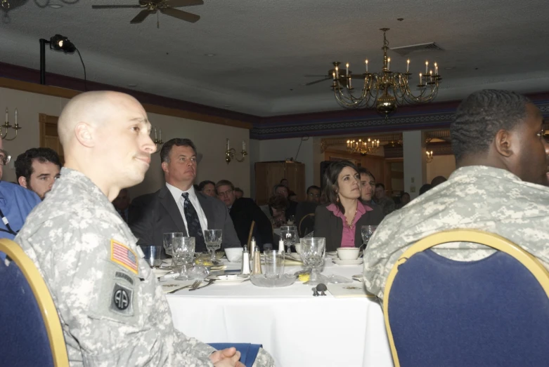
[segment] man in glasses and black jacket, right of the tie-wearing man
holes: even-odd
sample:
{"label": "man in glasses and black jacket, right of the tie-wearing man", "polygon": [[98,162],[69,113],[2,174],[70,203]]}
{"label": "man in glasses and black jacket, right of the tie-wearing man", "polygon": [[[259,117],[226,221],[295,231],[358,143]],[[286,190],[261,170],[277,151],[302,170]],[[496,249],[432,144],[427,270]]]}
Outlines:
{"label": "man in glasses and black jacket, right of the tie-wearing man", "polygon": [[259,249],[263,251],[264,243],[273,243],[271,221],[252,199],[245,197],[236,199],[235,187],[228,180],[217,182],[215,189],[217,190],[217,197],[225,203],[231,214],[240,243],[247,244],[252,222],[255,222],[252,236],[255,237]]}

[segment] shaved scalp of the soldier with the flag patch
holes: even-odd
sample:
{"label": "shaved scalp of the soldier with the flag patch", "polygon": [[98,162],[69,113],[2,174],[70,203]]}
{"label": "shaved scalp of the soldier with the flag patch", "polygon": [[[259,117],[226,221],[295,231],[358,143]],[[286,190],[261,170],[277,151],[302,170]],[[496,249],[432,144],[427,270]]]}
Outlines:
{"label": "shaved scalp of the soldier with the flag patch", "polygon": [[[138,107],[137,107],[138,106]],[[84,122],[92,126],[102,126],[113,119],[122,107],[137,107],[144,109],[131,95],[112,91],[93,91],[77,95],[72,98],[58,120],[59,140],[63,147],[67,147],[75,138],[75,127]]]}

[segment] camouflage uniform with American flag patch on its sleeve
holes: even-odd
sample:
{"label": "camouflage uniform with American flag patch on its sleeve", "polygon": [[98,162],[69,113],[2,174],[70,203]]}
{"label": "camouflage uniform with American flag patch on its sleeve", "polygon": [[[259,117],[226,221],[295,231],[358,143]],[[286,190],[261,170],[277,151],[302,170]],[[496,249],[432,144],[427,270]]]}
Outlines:
{"label": "camouflage uniform with American flag patch on its sleeve", "polygon": [[15,241],[49,287],[71,366],[212,366],[214,348],[176,331],[136,238],[82,173],[62,169]]}

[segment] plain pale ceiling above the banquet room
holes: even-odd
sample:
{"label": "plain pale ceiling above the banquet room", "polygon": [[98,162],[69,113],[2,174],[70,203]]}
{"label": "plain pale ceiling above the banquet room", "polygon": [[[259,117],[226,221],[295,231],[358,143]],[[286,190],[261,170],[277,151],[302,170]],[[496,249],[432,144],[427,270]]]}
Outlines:
{"label": "plain pale ceiling above the banquet room", "polygon": [[[160,14],[160,29],[156,16],[129,24],[138,9],[91,9],[137,0],[9,1],[11,10],[0,11],[0,62],[39,69],[38,39],[63,34],[91,81],[260,116],[340,108],[330,81],[303,86],[316,80],[304,75],[325,74],[335,60],[363,72],[365,58],[377,71],[382,27],[391,28],[390,47],[444,48],[409,55],[414,73],[425,71],[425,59],[441,65],[439,101],[486,87],[549,90],[548,0],[205,0],[182,8],[198,22]],[[406,58],[389,52],[392,69],[405,71]],[[46,50],[46,69],[83,77],[77,54]]]}

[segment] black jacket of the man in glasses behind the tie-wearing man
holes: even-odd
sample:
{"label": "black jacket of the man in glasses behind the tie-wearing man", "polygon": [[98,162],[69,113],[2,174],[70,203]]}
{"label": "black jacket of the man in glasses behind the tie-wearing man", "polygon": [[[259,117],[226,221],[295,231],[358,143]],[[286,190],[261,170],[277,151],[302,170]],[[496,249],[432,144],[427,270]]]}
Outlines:
{"label": "black jacket of the man in glasses behind the tie-wearing man", "polygon": [[241,245],[247,244],[252,221],[255,221],[253,236],[259,249],[263,251],[264,243],[273,243],[271,221],[252,199],[247,197],[236,199],[233,206],[231,206],[229,214],[231,214],[231,219],[233,220],[233,225],[235,226]]}

